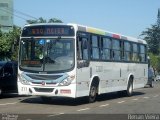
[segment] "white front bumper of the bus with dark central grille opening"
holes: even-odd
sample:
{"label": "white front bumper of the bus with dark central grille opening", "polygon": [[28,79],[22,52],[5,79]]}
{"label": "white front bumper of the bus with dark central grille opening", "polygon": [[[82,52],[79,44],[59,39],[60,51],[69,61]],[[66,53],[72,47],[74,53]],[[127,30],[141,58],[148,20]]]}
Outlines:
{"label": "white front bumper of the bus with dark central grille opening", "polygon": [[18,82],[18,94],[19,95],[36,95],[36,96],[50,96],[50,97],[71,97],[75,98],[75,85],[69,86],[31,86],[23,85]]}

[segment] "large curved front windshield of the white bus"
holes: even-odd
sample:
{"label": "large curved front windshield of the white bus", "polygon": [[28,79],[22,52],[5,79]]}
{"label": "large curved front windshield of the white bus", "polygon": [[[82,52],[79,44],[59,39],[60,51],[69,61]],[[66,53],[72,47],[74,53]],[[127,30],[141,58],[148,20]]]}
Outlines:
{"label": "large curved front windshield of the white bus", "polygon": [[21,40],[20,68],[32,72],[57,72],[74,66],[74,39]]}

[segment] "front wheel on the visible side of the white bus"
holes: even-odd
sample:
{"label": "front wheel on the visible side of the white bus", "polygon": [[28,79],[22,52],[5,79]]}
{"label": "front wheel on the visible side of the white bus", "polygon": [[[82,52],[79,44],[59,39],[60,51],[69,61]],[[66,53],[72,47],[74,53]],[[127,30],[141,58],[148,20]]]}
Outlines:
{"label": "front wheel on the visible side of the white bus", "polygon": [[93,103],[96,100],[97,97],[97,85],[96,82],[93,82],[90,87],[90,92],[89,92],[89,97],[88,97],[88,102]]}

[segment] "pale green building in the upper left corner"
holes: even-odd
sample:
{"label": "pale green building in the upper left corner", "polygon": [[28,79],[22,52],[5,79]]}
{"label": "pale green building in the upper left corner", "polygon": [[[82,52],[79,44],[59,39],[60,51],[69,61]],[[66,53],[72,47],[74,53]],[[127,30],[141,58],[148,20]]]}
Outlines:
{"label": "pale green building in the upper left corner", "polygon": [[13,0],[0,0],[0,30],[9,32],[13,28]]}

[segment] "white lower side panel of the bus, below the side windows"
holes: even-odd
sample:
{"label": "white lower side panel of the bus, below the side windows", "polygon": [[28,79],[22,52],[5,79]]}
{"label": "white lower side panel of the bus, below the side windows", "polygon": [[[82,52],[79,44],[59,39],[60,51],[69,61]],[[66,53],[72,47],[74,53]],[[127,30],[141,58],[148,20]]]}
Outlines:
{"label": "white lower side panel of the bus, below the side windows", "polygon": [[147,64],[91,61],[90,67],[77,69],[77,97],[89,95],[94,76],[100,80],[98,94],[127,90],[131,75],[133,89],[144,87],[147,83],[147,67]]}

